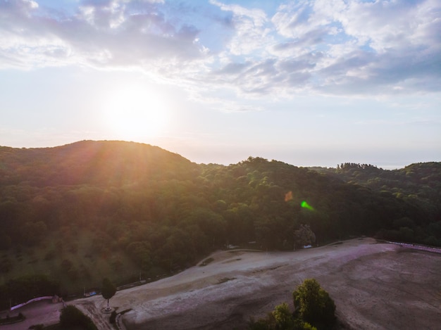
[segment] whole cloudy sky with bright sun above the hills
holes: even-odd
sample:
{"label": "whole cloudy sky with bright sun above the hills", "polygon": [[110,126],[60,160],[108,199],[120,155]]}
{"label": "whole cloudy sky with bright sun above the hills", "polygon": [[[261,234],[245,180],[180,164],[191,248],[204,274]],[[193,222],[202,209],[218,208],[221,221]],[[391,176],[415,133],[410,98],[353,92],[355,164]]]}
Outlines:
{"label": "whole cloudy sky with bright sun above the hills", "polygon": [[0,0],[0,146],[441,161],[439,0]]}

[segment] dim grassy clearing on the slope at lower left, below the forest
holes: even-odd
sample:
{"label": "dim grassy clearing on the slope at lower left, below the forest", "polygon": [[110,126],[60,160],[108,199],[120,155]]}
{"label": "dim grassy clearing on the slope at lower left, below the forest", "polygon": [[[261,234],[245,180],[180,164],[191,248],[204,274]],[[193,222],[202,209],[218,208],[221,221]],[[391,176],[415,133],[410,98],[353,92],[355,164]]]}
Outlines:
{"label": "dim grassy clearing on the slope at lower left, below the forest", "polygon": [[[125,251],[112,250],[106,258],[102,258],[92,246],[91,234],[81,233],[72,239],[73,242],[68,241],[64,245],[58,243],[60,236],[58,231],[49,235],[46,246],[2,250],[0,285],[9,279],[44,274],[60,282],[59,295],[81,297],[84,288],[99,287],[104,277],[111,277],[114,283],[127,283],[132,277],[139,278],[138,265],[125,255]],[[71,252],[72,246],[77,249],[76,253]],[[68,267],[63,267],[63,260],[70,261]],[[145,272],[142,277],[146,277]]]}

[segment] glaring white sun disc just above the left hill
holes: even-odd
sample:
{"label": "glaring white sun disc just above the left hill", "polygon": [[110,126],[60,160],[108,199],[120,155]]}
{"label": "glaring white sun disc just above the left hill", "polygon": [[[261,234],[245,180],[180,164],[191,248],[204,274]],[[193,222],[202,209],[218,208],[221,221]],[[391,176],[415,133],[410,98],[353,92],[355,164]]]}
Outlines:
{"label": "glaring white sun disc just above the left hill", "polygon": [[148,87],[130,86],[106,97],[104,113],[118,139],[142,141],[158,137],[166,128],[166,103]]}

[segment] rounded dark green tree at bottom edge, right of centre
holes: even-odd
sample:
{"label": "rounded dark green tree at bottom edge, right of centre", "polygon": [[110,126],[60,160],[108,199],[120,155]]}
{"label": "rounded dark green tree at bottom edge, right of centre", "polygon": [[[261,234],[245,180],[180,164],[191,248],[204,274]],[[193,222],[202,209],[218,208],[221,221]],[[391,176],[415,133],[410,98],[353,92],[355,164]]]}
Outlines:
{"label": "rounded dark green tree at bottom edge, right of centre", "polygon": [[297,315],[317,329],[329,329],[335,324],[335,303],[316,279],[306,279],[292,293]]}

